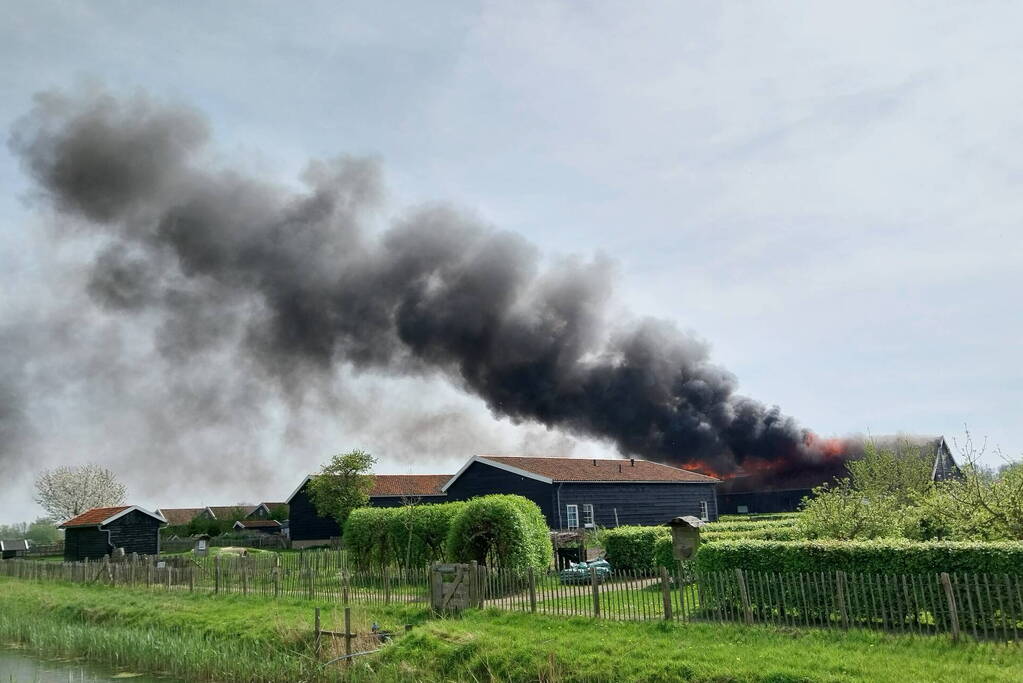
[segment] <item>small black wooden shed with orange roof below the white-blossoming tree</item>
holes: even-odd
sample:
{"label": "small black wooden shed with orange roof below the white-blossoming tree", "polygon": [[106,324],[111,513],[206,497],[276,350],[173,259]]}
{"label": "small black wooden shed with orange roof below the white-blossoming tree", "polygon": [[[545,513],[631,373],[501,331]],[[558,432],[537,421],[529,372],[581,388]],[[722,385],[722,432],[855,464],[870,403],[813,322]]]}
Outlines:
{"label": "small black wooden shed with orange roof below the white-blossoming tree", "polygon": [[167,520],[137,505],[96,507],[60,525],[64,561],[98,559],[124,548],[125,553],[160,553],[160,528]]}

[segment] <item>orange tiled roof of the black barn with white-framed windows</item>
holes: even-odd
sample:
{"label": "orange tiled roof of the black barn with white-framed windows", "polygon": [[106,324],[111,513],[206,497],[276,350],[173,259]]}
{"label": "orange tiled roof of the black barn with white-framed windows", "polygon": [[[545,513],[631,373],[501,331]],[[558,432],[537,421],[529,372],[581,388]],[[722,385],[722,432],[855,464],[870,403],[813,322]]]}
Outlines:
{"label": "orange tiled roof of the black barn with white-framed windows", "polygon": [[480,459],[518,467],[554,482],[686,482],[713,484],[706,474],[651,462],[650,460],[592,458],[533,458],[510,455],[481,455]]}

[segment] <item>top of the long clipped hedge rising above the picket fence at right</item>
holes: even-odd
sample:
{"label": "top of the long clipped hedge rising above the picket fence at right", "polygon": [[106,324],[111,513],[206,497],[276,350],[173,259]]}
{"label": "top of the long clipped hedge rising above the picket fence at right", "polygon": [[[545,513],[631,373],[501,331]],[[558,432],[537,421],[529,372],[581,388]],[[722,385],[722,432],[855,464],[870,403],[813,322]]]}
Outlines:
{"label": "top of the long clipped hedge rising above the picket fence at right", "polygon": [[976,572],[1023,575],[1020,542],[714,541],[700,546],[703,572],[834,572],[935,574]]}

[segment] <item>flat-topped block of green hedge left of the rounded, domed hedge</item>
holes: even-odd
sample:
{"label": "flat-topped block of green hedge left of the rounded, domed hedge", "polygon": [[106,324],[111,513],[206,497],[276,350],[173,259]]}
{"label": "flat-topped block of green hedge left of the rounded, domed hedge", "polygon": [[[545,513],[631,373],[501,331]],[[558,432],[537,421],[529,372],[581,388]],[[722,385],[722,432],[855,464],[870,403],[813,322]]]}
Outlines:
{"label": "flat-topped block of green hedge left of the rounded, domed hedge", "polygon": [[345,522],[344,544],[360,565],[422,566],[444,559],[451,520],[465,503],[360,507]]}

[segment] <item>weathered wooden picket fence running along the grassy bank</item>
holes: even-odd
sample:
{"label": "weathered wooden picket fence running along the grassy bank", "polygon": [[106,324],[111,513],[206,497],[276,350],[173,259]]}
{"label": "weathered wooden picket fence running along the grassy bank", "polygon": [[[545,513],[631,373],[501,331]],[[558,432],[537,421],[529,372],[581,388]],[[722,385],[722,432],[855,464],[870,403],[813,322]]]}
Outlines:
{"label": "weathered wooden picket fence running along the grassy bank", "polygon": [[[303,597],[341,604],[431,604],[432,567],[355,568],[343,551],[254,556],[0,562],[0,576],[204,593]],[[1021,578],[990,574],[693,574],[616,571],[564,583],[557,572],[477,567],[471,593],[486,607],[618,621],[870,628],[1018,641]]]}

